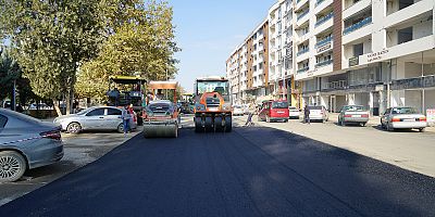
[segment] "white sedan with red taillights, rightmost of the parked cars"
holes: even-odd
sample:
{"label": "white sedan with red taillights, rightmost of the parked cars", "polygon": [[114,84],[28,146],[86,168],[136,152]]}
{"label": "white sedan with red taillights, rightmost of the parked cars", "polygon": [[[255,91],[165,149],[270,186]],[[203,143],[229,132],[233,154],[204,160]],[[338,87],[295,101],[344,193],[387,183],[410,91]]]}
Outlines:
{"label": "white sedan with red taillights, rightmost of the parked cars", "polygon": [[414,107],[389,107],[381,116],[381,126],[386,130],[419,129],[427,127],[426,116],[417,112]]}

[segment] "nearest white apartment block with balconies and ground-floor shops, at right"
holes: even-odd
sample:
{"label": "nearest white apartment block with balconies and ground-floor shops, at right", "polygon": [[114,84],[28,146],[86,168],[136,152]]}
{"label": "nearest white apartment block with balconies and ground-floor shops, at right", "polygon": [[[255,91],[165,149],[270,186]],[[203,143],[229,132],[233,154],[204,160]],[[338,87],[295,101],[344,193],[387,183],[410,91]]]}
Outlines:
{"label": "nearest white apartment block with balconies and ground-floor shops, at right", "polygon": [[433,108],[433,0],[279,0],[268,14],[269,94],[332,112]]}

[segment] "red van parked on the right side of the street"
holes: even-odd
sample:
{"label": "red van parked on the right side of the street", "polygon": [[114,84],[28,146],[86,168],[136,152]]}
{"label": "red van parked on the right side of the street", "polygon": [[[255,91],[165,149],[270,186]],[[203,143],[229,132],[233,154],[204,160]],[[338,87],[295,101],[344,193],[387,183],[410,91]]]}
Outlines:
{"label": "red van parked on the right side of the street", "polygon": [[284,100],[264,101],[258,118],[268,123],[274,120],[288,122],[288,102]]}

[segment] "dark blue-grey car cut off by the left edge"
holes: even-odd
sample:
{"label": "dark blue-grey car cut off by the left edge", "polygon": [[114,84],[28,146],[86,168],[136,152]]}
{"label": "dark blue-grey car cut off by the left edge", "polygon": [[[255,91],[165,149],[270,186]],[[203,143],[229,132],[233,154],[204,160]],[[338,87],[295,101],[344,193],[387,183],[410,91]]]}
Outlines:
{"label": "dark blue-grey car cut off by the left edge", "polygon": [[26,169],[50,165],[62,157],[60,126],[0,108],[0,182],[16,181]]}

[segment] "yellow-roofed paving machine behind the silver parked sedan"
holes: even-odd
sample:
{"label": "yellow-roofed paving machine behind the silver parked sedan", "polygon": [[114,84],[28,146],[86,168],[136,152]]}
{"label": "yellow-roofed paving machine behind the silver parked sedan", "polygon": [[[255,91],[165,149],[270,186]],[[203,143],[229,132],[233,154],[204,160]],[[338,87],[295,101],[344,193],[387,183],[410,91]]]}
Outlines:
{"label": "yellow-roofed paving machine behind the silver parked sedan", "polygon": [[110,76],[108,105],[125,106],[133,104],[137,114],[137,124],[142,125],[141,113],[145,106],[145,84],[147,80],[138,76]]}

